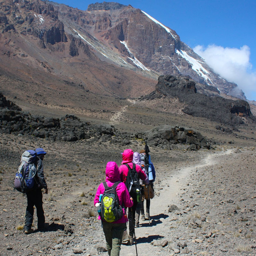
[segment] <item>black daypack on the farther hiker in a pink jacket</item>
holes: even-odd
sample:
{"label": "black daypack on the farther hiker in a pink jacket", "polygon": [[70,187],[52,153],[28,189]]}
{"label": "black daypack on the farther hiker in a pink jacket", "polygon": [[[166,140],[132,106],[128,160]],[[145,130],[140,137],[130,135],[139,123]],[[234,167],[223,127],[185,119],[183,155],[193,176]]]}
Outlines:
{"label": "black daypack on the farther hiker in a pink jacket", "polygon": [[128,173],[125,181],[126,188],[132,198],[136,198],[136,189],[140,190],[140,178],[136,171],[136,164],[132,164],[132,169],[129,164],[124,164],[128,167]]}

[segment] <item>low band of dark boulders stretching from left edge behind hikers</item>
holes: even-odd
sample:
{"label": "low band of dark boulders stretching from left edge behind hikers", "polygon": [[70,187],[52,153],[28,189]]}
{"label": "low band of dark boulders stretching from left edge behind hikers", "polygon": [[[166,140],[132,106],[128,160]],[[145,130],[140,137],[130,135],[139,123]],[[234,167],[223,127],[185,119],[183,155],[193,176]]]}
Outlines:
{"label": "low band of dark boulders stretching from left edge behind hikers", "polygon": [[[176,125],[157,126],[147,132],[119,132],[113,125],[82,122],[74,115],[60,118],[32,116],[0,93],[0,128],[3,133],[14,133],[18,136],[32,135],[54,141],[86,140],[91,142],[109,142],[129,145],[131,140],[148,141],[149,146],[164,149],[197,150],[210,148],[211,143],[199,132]],[[17,110],[13,110],[17,109]]]}

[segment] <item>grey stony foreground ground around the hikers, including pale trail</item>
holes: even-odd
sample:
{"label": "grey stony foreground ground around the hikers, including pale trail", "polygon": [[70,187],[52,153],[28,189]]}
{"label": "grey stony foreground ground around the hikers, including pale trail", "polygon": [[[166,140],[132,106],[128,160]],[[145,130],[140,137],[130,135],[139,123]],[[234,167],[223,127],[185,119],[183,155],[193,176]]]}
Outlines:
{"label": "grey stony foreground ground around the hikers, including pale trail", "polygon": [[[24,140],[25,139],[25,140]],[[47,228],[25,235],[26,197],[13,190],[20,153],[43,147]],[[144,145],[133,141],[129,148]],[[107,161],[126,147],[1,134],[1,255],[107,255],[93,198]],[[138,255],[254,255],[255,147],[166,151],[150,147],[157,170],[152,220],[136,228]],[[34,229],[36,229],[36,215]],[[17,242],[19,241],[19,242]],[[121,255],[136,255],[123,244]]]}

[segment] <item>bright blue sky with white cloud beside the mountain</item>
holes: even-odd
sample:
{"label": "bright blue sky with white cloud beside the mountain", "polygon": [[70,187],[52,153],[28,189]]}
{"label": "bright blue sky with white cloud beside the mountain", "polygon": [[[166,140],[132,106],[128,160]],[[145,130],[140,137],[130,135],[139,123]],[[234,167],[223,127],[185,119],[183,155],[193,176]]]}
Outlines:
{"label": "bright blue sky with white cloud beside the mountain", "polygon": [[[80,10],[95,3],[92,0],[53,2]],[[215,72],[238,84],[248,100],[256,100],[256,0],[116,2],[131,4],[175,30],[180,40],[202,56]]]}

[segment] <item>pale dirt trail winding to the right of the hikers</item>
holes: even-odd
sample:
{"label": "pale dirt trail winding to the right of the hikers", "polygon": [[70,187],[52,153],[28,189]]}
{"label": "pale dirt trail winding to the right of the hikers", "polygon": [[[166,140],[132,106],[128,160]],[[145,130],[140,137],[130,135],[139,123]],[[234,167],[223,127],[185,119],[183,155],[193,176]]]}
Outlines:
{"label": "pale dirt trail winding to the right of the hikers", "polygon": [[[231,149],[225,152],[211,153],[198,164],[185,166],[177,171],[174,176],[170,174],[169,177],[167,176],[165,180],[162,180],[160,196],[155,196],[151,200],[150,215],[152,216],[152,220],[150,224],[148,221],[140,220],[140,227],[135,229],[138,255],[162,255],[159,247],[150,245],[150,242],[158,238],[172,240],[172,232],[166,228],[167,222],[170,221],[168,218],[168,205],[175,204],[179,207],[178,196],[180,188],[184,183],[189,182],[190,174],[197,168],[214,165],[218,156],[230,153],[232,153]],[[144,207],[146,207],[146,202],[144,202]],[[132,246],[122,244],[120,255],[135,256],[135,244]]]}

